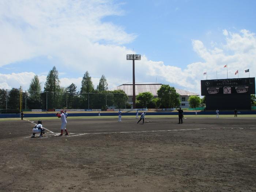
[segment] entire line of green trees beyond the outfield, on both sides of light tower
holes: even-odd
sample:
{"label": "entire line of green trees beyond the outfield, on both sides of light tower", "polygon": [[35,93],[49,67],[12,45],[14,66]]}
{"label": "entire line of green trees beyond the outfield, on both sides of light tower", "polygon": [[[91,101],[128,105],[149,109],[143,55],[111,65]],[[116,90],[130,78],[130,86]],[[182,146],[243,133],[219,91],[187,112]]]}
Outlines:
{"label": "entire line of green trees beyond the outfield, on both sides of light tower", "polygon": [[[20,89],[13,88],[9,92],[0,89],[0,109],[19,109]],[[83,75],[80,91],[74,83],[68,87],[61,87],[59,73],[54,66],[49,71],[44,91],[37,75],[30,82],[29,89],[22,93],[23,109],[60,109],[67,106],[69,109],[107,109],[108,106],[130,109],[128,96],[123,90],[108,90],[108,83],[104,75],[101,76],[97,88],[94,88],[88,71]],[[174,87],[163,84],[154,98],[150,92],[140,93],[136,96],[136,108],[176,108],[181,105],[180,95]],[[255,105],[255,95],[251,95],[251,104]],[[7,102],[6,102],[7,101]],[[205,106],[205,97],[189,97],[189,106],[196,108]]]}

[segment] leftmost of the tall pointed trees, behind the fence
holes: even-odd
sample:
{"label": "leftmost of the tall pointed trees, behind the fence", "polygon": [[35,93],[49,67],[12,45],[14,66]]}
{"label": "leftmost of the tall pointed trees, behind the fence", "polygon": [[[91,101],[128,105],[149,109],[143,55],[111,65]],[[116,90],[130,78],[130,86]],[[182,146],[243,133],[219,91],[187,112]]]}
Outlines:
{"label": "leftmost of the tall pointed trees, behind the fence", "polygon": [[29,85],[29,97],[28,97],[28,108],[29,109],[41,109],[42,108],[42,99],[41,99],[41,84],[39,83],[39,78],[37,75],[31,79]]}

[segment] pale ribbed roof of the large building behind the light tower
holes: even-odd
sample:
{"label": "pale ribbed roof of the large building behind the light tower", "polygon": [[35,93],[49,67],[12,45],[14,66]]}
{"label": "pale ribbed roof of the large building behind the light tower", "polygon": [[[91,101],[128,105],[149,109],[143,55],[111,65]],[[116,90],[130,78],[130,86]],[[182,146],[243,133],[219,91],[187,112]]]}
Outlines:
{"label": "pale ribbed roof of the large building behind the light tower", "polygon": [[[153,95],[157,95],[157,90],[160,89],[161,83],[135,83],[135,95],[139,93],[149,91]],[[199,95],[191,91],[185,91],[182,89],[176,89],[176,92],[180,95]],[[128,96],[132,96],[132,83],[124,83],[111,90],[123,90]]]}

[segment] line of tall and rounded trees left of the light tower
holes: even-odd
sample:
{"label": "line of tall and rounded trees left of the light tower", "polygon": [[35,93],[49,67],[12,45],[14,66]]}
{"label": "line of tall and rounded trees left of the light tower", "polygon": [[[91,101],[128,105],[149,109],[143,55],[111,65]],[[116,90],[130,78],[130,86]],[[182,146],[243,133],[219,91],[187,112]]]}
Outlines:
{"label": "line of tall and rounded trees left of the light tower", "polygon": [[[0,90],[0,109],[19,109],[20,89],[13,88],[9,92]],[[106,103],[107,100],[107,103]],[[106,109],[108,106],[117,108],[131,108],[127,103],[128,96],[123,90],[108,90],[108,83],[104,75],[101,76],[97,88],[94,88],[88,71],[84,73],[81,89],[77,90],[74,83],[68,87],[61,87],[59,73],[54,66],[49,71],[44,91],[37,75],[31,80],[29,89],[22,93],[23,109]]]}

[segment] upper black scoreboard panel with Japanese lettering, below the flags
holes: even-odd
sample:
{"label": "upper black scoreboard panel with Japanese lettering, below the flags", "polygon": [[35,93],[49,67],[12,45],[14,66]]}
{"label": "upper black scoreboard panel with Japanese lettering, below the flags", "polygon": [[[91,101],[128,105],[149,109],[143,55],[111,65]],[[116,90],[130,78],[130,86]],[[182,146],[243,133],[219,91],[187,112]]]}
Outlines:
{"label": "upper black scoreboard panel with Japanese lettering, below the flags", "polygon": [[201,95],[255,94],[255,78],[201,80]]}

